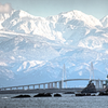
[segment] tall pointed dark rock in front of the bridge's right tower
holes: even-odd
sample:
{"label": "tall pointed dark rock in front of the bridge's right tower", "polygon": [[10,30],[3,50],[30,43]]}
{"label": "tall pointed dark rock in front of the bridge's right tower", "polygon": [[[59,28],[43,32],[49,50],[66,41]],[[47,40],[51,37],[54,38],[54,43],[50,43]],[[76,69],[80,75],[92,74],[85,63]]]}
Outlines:
{"label": "tall pointed dark rock in front of the bridge's right tower", "polygon": [[92,83],[92,81],[89,82],[87,86],[84,87],[81,93],[96,93],[96,89],[94,83]]}

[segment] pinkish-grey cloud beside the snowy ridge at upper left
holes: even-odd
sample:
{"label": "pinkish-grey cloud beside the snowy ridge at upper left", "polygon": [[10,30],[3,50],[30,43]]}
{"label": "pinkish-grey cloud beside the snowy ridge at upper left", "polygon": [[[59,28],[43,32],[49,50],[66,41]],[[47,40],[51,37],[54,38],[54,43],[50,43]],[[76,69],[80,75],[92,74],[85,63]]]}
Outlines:
{"label": "pinkish-grey cloud beside the snowy ridge at upper left", "polygon": [[10,3],[1,4],[0,3],[0,13],[10,13],[12,11],[12,6]]}

